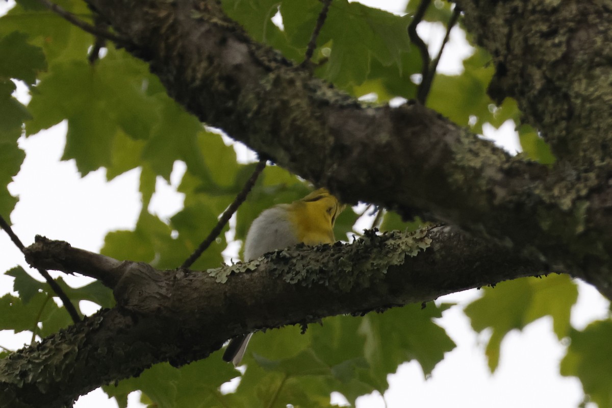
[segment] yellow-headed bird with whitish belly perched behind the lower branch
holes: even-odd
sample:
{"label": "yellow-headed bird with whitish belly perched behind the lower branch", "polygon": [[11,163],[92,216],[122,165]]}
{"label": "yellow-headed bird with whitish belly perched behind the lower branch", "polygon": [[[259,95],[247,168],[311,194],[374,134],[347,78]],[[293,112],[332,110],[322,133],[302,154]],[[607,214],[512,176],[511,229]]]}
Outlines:
{"label": "yellow-headed bird with whitish belly perched behind the lower branch", "polygon": [[[250,261],[300,242],[306,245],[334,243],[334,223],[344,207],[326,188],[319,188],[291,204],[277,204],[264,210],[248,229],[244,260]],[[239,365],[252,335],[232,338],[223,360]]]}

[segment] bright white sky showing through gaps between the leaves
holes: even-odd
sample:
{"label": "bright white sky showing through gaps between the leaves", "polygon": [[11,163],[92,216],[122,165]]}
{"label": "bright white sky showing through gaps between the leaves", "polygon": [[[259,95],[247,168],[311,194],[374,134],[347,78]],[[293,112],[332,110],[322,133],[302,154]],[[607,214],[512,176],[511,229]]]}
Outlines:
{"label": "bright white sky showing through gaps between the leaves", "polygon": [[[401,13],[405,6],[405,0],[362,2],[395,13]],[[7,4],[0,2],[0,14],[6,9]],[[431,50],[437,52],[444,32],[434,24],[422,23],[419,34],[429,38]],[[460,72],[461,58],[470,53],[465,37],[460,30],[454,29],[442,57],[441,69],[445,73]],[[27,100],[23,87],[19,95]],[[78,248],[99,251],[106,232],[132,229],[135,225],[141,206],[138,193],[140,171],[129,171],[110,183],[105,181],[104,170],[81,179],[74,161],[60,161],[65,130],[65,124],[59,124],[28,139],[20,139],[20,146],[26,150],[27,156],[20,173],[9,185],[11,193],[20,198],[11,217],[13,229],[25,245],[34,241],[35,234],[40,234],[65,240]],[[496,132],[492,127],[485,127],[485,136],[494,138],[496,143],[510,151],[520,149],[512,124],[504,124]],[[158,179],[151,209],[162,218],[169,218],[182,207],[182,195],[176,193],[176,187],[183,172],[184,165],[177,163],[170,185]],[[203,237],[206,233],[203,231]],[[37,272],[28,268],[7,235],[0,231],[0,273],[17,264],[39,278]],[[91,281],[82,276],[65,276],[56,272],[51,272],[51,275],[62,276],[73,286]],[[12,278],[0,275],[0,295],[10,291]],[[396,374],[389,376],[390,390],[384,396],[386,405],[382,396],[374,394],[358,399],[357,407],[577,407],[582,398],[581,385],[575,378],[559,376],[564,346],[553,335],[552,321],[548,317],[534,322],[523,332],[510,333],[502,343],[498,370],[494,375],[489,373],[483,349],[490,333],[476,335],[461,313],[462,306],[478,296],[479,292],[474,289],[438,300],[458,303],[438,320],[438,324],[457,343],[457,348],[436,366],[430,378],[424,378],[418,363],[406,363]],[[85,311],[95,311],[92,303],[84,303],[81,305]],[[583,328],[594,319],[606,318],[608,306],[609,302],[599,292],[580,283],[578,304],[572,310],[572,324]],[[0,332],[2,347],[17,349],[30,341],[30,334]],[[130,408],[142,406],[136,393],[130,395],[129,401]],[[341,399],[334,401],[340,402]],[[75,407],[110,408],[116,407],[116,403],[106,398],[102,391],[95,390],[81,397]]]}

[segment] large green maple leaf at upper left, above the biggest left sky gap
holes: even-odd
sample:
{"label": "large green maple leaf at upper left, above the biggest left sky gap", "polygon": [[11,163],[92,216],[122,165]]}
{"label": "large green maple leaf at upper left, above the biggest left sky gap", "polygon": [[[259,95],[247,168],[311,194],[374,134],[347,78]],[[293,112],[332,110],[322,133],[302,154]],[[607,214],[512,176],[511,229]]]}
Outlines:
{"label": "large green maple leaf at upper left, above the biggest left sky gap", "polygon": [[125,136],[147,139],[156,125],[159,129],[159,98],[147,94],[147,78],[144,64],[115,51],[109,51],[94,67],[84,61],[53,65],[32,89],[29,109],[33,119],[26,131],[31,135],[68,119],[63,160],[74,158],[82,174],[102,166],[110,168],[112,178],[135,167],[140,158],[140,154],[128,157],[127,149],[144,149]]}

